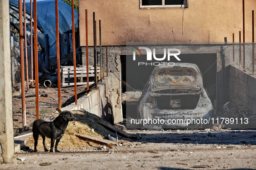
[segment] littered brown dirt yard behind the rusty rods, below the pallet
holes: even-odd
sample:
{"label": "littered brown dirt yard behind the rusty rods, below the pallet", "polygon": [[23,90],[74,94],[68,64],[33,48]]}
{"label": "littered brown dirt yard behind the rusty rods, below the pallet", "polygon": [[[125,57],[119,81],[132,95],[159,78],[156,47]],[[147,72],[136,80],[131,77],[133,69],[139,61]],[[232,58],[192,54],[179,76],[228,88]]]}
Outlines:
{"label": "littered brown dirt yard behind the rusty rods, below the pallet", "polygon": [[[77,88],[77,93],[84,91],[86,86],[79,86]],[[35,93],[35,88],[29,88],[28,93]],[[42,87],[39,86],[39,93],[47,94],[48,97],[39,96],[39,118],[52,117],[52,115],[56,112],[56,108],[58,107],[58,88],[57,87]],[[61,99],[62,99],[62,107],[65,107],[73,102],[75,90],[74,86],[62,87],[61,88]],[[30,125],[33,121],[36,120],[36,97],[27,97],[26,98],[26,124]],[[22,100],[21,98],[13,97],[13,127],[15,129],[22,127]]]}

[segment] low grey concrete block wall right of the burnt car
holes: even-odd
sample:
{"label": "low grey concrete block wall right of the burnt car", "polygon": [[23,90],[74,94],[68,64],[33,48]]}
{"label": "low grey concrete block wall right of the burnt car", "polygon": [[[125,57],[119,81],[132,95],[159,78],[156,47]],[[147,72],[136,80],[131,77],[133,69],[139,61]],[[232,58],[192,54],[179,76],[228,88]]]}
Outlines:
{"label": "low grey concrete block wall right of the burnt car", "polygon": [[243,72],[239,66],[230,66],[230,103],[246,104],[256,113],[256,75],[248,70]]}

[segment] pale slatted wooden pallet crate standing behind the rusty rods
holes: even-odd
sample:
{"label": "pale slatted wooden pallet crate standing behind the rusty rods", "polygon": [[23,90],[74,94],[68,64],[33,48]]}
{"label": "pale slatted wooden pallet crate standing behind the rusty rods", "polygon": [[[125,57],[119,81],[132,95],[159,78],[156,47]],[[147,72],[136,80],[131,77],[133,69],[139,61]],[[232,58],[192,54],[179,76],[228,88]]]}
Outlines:
{"label": "pale slatted wooden pallet crate standing behind the rusty rods", "polygon": [[[88,70],[89,77],[94,77],[94,66],[89,66]],[[74,66],[61,66],[61,75],[62,75],[62,86],[66,85],[75,85],[74,82]],[[76,67],[76,77],[77,77],[77,85],[87,85],[86,77],[87,77],[87,69],[86,66],[77,66]],[[97,77],[100,79],[100,67],[97,66]],[[69,79],[73,78],[73,79]],[[85,78],[85,79],[84,79]],[[93,82],[89,82],[89,85],[94,84]]]}

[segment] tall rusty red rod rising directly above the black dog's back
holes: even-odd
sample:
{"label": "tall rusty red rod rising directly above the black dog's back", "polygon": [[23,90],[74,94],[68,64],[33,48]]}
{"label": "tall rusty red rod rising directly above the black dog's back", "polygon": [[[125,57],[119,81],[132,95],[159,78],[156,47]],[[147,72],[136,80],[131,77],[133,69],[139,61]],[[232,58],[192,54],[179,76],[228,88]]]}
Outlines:
{"label": "tall rusty red rod rising directly above the black dog's back", "polygon": [[39,119],[39,77],[38,77],[38,48],[37,48],[37,14],[36,0],[33,3],[34,7],[34,49],[35,49],[35,83],[36,83],[36,119]]}

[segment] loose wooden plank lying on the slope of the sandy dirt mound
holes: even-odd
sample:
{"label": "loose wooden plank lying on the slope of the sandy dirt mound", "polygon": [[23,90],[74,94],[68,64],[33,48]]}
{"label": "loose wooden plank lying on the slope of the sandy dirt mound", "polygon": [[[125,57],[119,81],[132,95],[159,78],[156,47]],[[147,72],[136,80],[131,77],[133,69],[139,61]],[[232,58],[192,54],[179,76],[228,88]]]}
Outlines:
{"label": "loose wooden plank lying on the slope of the sandy dirt mound", "polygon": [[114,142],[114,141],[110,141],[110,140],[106,140],[106,139],[102,139],[102,138],[98,138],[98,137],[86,135],[86,134],[83,134],[83,135],[75,134],[75,136],[78,137],[79,139],[83,139],[89,142],[94,142],[99,145],[105,145],[109,148],[112,148],[111,146],[118,144],[117,142]]}

